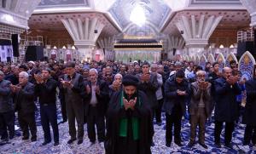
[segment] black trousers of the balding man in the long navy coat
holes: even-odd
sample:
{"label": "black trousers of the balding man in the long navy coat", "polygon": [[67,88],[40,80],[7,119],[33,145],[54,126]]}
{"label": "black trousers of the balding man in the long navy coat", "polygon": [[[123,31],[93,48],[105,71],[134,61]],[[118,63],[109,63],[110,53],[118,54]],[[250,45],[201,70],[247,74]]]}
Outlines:
{"label": "black trousers of the balding man in the long navy coat", "polygon": [[[220,143],[220,134],[222,131],[224,122],[215,121],[215,128],[214,128],[214,140],[215,143]],[[224,144],[229,145],[232,140],[232,133],[235,128],[235,122],[232,123],[225,123],[224,129]]]}

